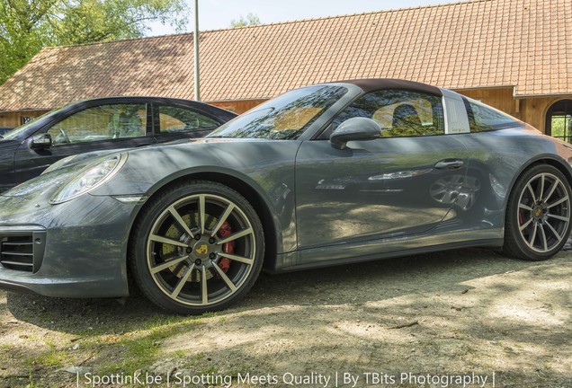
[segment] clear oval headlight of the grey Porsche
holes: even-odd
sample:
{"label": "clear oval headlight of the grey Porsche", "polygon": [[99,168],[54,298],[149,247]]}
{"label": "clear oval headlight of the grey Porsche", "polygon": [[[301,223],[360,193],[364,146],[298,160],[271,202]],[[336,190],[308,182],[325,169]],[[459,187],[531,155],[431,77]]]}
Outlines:
{"label": "clear oval headlight of the grey Porsche", "polygon": [[115,154],[85,166],[71,180],[67,181],[49,201],[56,205],[77,198],[109,181],[125,163],[127,154]]}

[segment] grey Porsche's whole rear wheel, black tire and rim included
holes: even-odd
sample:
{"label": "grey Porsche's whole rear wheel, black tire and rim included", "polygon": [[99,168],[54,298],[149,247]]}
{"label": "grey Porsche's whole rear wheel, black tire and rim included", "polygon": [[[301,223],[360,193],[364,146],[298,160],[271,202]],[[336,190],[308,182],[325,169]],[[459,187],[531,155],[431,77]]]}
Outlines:
{"label": "grey Porsche's whole rear wheel, black tire and rim included", "polygon": [[572,190],[566,176],[549,164],[523,172],[508,198],[503,254],[522,260],[547,260],[570,234]]}

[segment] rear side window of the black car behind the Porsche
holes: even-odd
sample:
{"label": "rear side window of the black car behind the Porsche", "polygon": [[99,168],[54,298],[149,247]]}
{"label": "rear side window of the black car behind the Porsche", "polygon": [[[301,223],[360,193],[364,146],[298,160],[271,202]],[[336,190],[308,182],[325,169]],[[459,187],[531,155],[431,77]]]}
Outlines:
{"label": "rear side window of the black car behind the Porsche", "polygon": [[214,129],[220,123],[189,108],[164,104],[155,104],[159,111],[159,128],[161,133],[192,131],[197,129]]}

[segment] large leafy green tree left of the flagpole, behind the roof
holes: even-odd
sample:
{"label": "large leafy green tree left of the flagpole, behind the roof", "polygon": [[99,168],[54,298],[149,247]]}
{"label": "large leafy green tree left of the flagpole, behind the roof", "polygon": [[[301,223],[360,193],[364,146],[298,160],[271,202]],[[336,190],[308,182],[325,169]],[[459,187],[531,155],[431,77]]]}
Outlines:
{"label": "large leafy green tree left of the flagpole, behind the roof", "polygon": [[0,0],[0,84],[41,48],[138,38],[148,22],[186,25],[184,0]]}

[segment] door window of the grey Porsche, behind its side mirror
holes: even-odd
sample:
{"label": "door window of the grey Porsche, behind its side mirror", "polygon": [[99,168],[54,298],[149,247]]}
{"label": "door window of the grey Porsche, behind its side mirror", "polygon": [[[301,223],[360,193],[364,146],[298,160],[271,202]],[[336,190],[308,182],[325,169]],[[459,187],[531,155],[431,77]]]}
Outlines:
{"label": "door window of the grey Porsche, behind its side mirror", "polygon": [[381,128],[380,137],[417,137],[445,133],[442,98],[405,90],[364,94],[334,119],[333,128],[344,120],[365,117]]}

